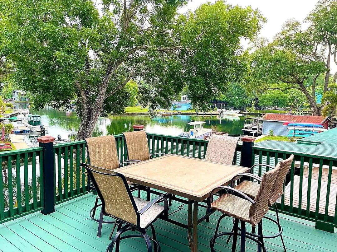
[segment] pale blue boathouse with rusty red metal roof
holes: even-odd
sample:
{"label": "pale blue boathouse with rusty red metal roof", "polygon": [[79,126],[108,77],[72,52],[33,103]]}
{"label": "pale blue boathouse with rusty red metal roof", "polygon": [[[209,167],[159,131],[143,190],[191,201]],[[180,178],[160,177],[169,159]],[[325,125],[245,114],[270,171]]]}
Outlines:
{"label": "pale blue boathouse with rusty red metal roof", "polygon": [[288,126],[283,125],[284,122],[321,123],[326,129],[328,129],[330,122],[330,119],[326,116],[300,116],[288,114],[266,114],[259,120],[263,122],[262,134],[268,135],[270,130],[273,130],[273,135],[275,136],[286,136],[288,134]]}

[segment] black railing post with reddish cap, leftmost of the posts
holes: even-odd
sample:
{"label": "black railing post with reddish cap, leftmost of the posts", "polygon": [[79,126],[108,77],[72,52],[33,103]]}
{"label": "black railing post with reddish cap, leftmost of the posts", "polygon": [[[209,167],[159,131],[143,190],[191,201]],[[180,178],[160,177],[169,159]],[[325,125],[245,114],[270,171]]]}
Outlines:
{"label": "black railing post with reddish cap, leftmost of the posts", "polygon": [[43,201],[44,209],[41,213],[44,215],[55,212],[54,196],[54,141],[55,137],[40,136],[37,138],[40,147],[43,148]]}

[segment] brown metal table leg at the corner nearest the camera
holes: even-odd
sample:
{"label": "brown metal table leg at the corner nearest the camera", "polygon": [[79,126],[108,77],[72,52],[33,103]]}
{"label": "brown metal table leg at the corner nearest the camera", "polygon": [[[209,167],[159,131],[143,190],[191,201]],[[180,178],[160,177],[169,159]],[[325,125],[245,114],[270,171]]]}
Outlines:
{"label": "brown metal table leg at the corner nearest the camera", "polygon": [[[192,225],[192,206],[193,206],[193,225]],[[188,243],[191,252],[198,251],[198,202],[188,200]],[[193,237],[192,237],[193,228]]]}

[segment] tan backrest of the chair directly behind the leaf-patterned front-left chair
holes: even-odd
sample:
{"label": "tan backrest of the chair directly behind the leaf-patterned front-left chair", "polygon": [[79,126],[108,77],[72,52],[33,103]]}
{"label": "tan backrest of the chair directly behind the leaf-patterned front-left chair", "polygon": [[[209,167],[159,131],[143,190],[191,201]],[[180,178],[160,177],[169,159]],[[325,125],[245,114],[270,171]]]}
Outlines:
{"label": "tan backrest of the chair directly behind the leaf-patterned front-left chair", "polygon": [[107,170],[119,168],[116,140],[113,135],[84,138],[90,164]]}

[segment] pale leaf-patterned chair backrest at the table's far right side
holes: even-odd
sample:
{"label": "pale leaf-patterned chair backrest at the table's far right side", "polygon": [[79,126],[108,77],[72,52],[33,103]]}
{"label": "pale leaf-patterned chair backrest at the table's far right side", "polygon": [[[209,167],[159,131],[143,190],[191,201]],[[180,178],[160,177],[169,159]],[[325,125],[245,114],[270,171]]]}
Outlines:
{"label": "pale leaf-patterned chair backrest at the table's far right side", "polygon": [[238,137],[211,135],[207,145],[205,160],[221,164],[233,164],[238,141]]}

